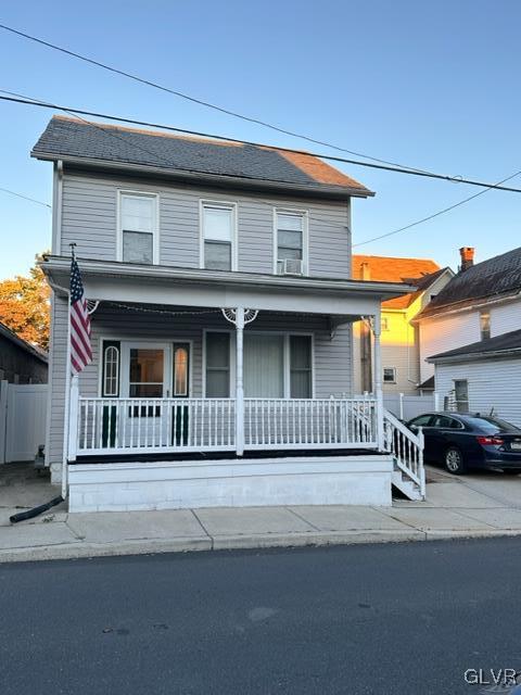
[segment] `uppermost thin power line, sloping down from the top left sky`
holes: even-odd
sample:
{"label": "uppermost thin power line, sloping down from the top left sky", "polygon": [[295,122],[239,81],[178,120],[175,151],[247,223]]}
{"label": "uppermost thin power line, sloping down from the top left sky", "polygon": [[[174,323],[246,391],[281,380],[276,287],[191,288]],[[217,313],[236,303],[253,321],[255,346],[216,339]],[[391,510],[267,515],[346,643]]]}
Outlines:
{"label": "uppermost thin power line, sloping down from the top left sky", "polygon": [[389,164],[391,166],[398,166],[401,168],[407,168],[414,172],[424,172],[424,169],[418,169],[416,167],[411,167],[411,166],[405,166],[403,164],[397,164],[396,162],[389,162],[387,160],[381,160],[378,159],[376,156],[370,156],[369,154],[363,154],[360,152],[355,152],[353,150],[347,150],[345,148],[342,148],[338,144],[332,144],[331,142],[327,142],[325,140],[317,140],[315,138],[312,138],[307,135],[303,135],[301,132],[295,132],[293,130],[288,130],[285,128],[282,128],[280,126],[276,126],[271,123],[268,123],[266,121],[262,121],[260,118],[255,118],[253,116],[245,116],[243,114],[240,114],[236,111],[231,111],[229,109],[225,109],[223,106],[218,106],[217,104],[213,104],[208,101],[203,101],[202,99],[198,99],[195,97],[191,97],[190,94],[187,94],[185,92],[181,92],[179,90],[176,89],[171,89],[170,87],[165,87],[164,85],[160,85],[158,83],[154,83],[150,79],[145,79],[144,77],[140,77],[139,75],[135,75],[132,73],[128,73],[126,71],[119,70],[117,67],[114,67],[112,65],[107,65],[106,63],[102,63],[101,61],[94,60],[92,58],[88,58],[87,55],[82,55],[81,53],[77,53],[75,51],[71,51],[66,48],[63,48],[62,46],[58,46],[55,43],[51,43],[50,41],[45,41],[43,39],[40,39],[36,36],[31,36],[30,34],[26,34],[25,31],[20,31],[18,29],[15,29],[11,26],[8,26],[5,24],[0,24],[0,28],[4,29],[5,31],[10,31],[11,34],[15,34],[16,36],[20,36],[22,38],[28,39],[29,41],[35,41],[36,43],[40,43],[41,46],[46,46],[47,48],[53,49],[55,51],[60,51],[61,53],[65,53],[66,55],[71,55],[72,58],[77,58],[80,61],[84,61],[86,63],[90,63],[91,65],[96,65],[97,67],[101,67],[103,70],[106,70],[111,73],[114,73],[116,75],[120,75],[123,77],[128,77],[129,79],[134,79],[137,83],[140,83],[142,85],[147,85],[148,87],[153,87],[154,89],[158,89],[161,91],[167,92],[169,94],[174,94],[175,97],[180,97],[181,99],[186,99],[187,101],[191,101],[192,103],[199,104],[201,106],[206,106],[207,109],[213,109],[214,111],[218,111],[220,113],[224,113],[228,116],[233,116],[234,118],[240,118],[242,121],[246,121],[249,123],[253,123],[259,126],[263,126],[265,128],[270,128],[271,130],[275,130],[277,132],[281,132],[283,135],[289,135],[293,138],[300,138],[302,140],[307,140],[307,142],[313,142],[314,144],[320,144],[320,146],[325,146],[328,148],[331,148],[333,150],[338,150],[339,152],[346,152],[347,154],[354,154],[355,156],[361,156],[365,160],[371,160],[372,162],[379,162],[380,164]]}

